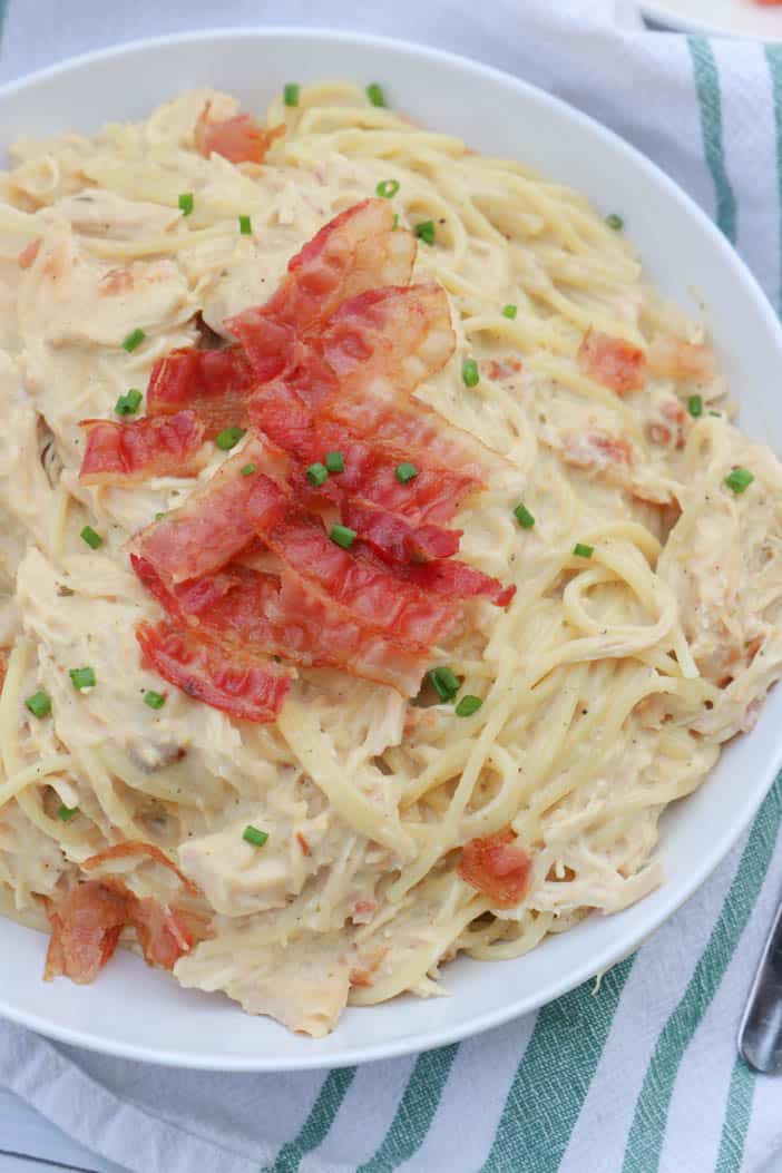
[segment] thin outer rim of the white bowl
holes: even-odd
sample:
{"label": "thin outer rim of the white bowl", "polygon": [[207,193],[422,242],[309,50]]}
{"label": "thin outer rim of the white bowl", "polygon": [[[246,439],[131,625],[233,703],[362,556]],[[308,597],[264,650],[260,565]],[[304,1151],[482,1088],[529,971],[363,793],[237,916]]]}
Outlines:
{"label": "thin outer rim of the white bowl", "polygon": [[[753,312],[764,319],[766,327],[775,333],[782,352],[782,324],[780,323],[771,303],[763,293],[755,276],[739,257],[727,238],[718,229],[707,213],[695,203],[682,188],[662,171],[657,163],[652,162],[638,148],[621,138],[616,131],[605,127],[597,118],[591,117],[569,102],[543,88],[525,81],[521,77],[475,61],[462,54],[446,49],[435,49],[428,46],[417,45],[400,38],[378,35],[373,33],[361,33],[349,29],[331,29],[325,26],[288,26],[288,25],[247,25],[247,26],[215,26],[189,32],[166,33],[158,36],[140,38],[123,41],[93,49],[75,56],[67,57],[54,65],[25,74],[0,84],[0,100],[13,97],[13,95],[28,89],[35,89],[39,84],[56,80],[57,77],[89,69],[94,65],[104,63],[118,57],[142,55],[145,52],[176,49],[181,45],[190,45],[203,41],[215,42],[216,40],[270,40],[292,39],[317,42],[336,42],[353,46],[360,50],[362,46],[379,47],[399,55],[414,56],[421,60],[433,59],[458,70],[471,70],[482,75],[489,81],[498,82],[503,86],[511,84],[521,90],[528,100],[543,103],[576,124],[589,128],[590,134],[601,138],[606,144],[623,154],[627,163],[640,171],[645,177],[652,178],[658,187],[666,190],[666,195],[687,210],[691,218],[699,222],[699,226],[708,239],[712,248],[722,255],[722,259],[733,271],[736,279],[743,286],[748,298],[752,298]],[[748,734],[752,737],[752,734]],[[769,792],[778,771],[782,766],[782,733],[778,744],[775,745],[773,754],[768,755],[764,767],[757,779],[756,791],[753,792],[750,801],[746,801],[739,816],[729,821],[722,834],[713,838],[708,850],[696,861],[687,876],[679,881],[675,890],[671,890],[671,896],[660,902],[660,907],[647,906],[642,900],[633,906],[635,911],[634,924],[631,929],[623,931],[619,942],[607,942],[603,949],[586,956],[576,968],[564,972],[558,982],[553,982],[545,991],[544,997],[526,995],[509,999],[501,1006],[484,1012],[472,1013],[467,1021],[451,1023],[446,1026],[429,1028],[420,1030],[413,1035],[406,1032],[402,1026],[393,1040],[385,1039],[373,1043],[370,1032],[367,1032],[368,1040],[361,1046],[352,1044],[345,1045],[340,1050],[328,1056],[319,1055],[318,1040],[311,1040],[311,1050],[307,1053],[295,1055],[284,1058],[267,1059],[263,1053],[246,1055],[218,1055],[213,1050],[203,1052],[181,1052],[168,1046],[151,1047],[147,1044],[137,1045],[113,1040],[100,1033],[90,1033],[89,1029],[74,1028],[60,1024],[53,1019],[32,1010],[25,1010],[18,1005],[8,1003],[0,994],[0,1013],[9,1021],[38,1031],[48,1038],[61,1043],[81,1046],[90,1051],[115,1056],[118,1058],[155,1063],[164,1066],[184,1067],[188,1070],[205,1071],[237,1071],[237,1072],[281,1072],[297,1070],[324,1070],[344,1067],[354,1064],[379,1062],[382,1059],[397,1058],[407,1055],[415,1055],[420,1051],[443,1046],[454,1042],[471,1038],[475,1035],[501,1026],[515,1018],[530,1013],[550,1002],[556,1001],[577,985],[589,981],[596,974],[617,964],[630,954],[634,952],[639,945],[660,925],[668,920],[705,882],[715,870],[729,850],[735,846],[742,833],[755,818],[763,799]],[[664,886],[665,888],[666,886]],[[621,916],[624,914],[614,914]],[[53,1003],[53,1008],[56,1003]],[[239,1012],[237,1010],[237,1012]],[[339,1031],[339,1024],[336,1026]],[[334,1036],[332,1036],[333,1038]]]}

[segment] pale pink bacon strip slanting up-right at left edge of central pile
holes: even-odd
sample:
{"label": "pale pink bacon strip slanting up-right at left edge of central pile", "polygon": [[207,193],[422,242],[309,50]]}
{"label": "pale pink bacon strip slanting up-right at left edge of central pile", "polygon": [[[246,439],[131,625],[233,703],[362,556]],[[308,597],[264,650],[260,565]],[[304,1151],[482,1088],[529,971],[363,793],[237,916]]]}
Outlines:
{"label": "pale pink bacon strip slanting up-right at left edge of central pile", "polygon": [[[197,578],[230,562],[254,537],[245,514],[254,480],[242,475],[247,463],[274,467],[260,441],[251,440],[181,509],[136,534],[128,544],[129,552],[151,563],[166,583]],[[284,511],[280,506],[280,516]]]}

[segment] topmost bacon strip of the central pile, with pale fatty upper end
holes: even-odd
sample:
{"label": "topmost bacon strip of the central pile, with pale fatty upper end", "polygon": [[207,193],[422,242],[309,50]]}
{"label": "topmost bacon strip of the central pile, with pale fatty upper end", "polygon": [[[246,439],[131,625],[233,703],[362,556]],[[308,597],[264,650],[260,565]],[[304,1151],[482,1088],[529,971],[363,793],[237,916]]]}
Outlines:
{"label": "topmost bacon strip of the central pile, with pale fatty upper end", "polygon": [[[387,199],[365,199],[329,221],[291,259],[278,290],[265,305],[229,318],[225,327],[239,339],[259,379],[267,373],[274,347],[290,347],[291,330],[299,335],[315,330],[346,298],[381,285],[410,279],[415,239],[393,231],[394,212]],[[273,330],[279,334],[277,340]],[[287,330],[286,330],[287,327]]]}

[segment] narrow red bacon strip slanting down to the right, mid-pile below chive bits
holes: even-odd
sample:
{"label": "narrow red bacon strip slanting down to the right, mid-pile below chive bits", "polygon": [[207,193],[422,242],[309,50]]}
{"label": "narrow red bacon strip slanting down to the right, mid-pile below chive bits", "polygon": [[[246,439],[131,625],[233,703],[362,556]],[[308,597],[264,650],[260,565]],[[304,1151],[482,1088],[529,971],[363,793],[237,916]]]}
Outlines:
{"label": "narrow red bacon strip slanting down to the right, mid-pile below chive bits", "polygon": [[285,494],[264,475],[252,480],[246,511],[258,536],[294,574],[317,583],[365,625],[403,647],[422,650],[456,625],[458,615],[453,608],[390,574],[370,555],[336,545],[319,521],[293,510],[278,521]]}

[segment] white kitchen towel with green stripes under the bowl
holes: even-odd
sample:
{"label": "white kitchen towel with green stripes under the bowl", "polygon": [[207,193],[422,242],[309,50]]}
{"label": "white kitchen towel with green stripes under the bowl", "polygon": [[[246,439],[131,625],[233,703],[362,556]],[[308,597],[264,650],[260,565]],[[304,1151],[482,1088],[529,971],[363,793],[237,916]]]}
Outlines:
{"label": "white kitchen towel with green stripes under the bowl", "polygon": [[[360,22],[480,57],[660,163],[780,305],[782,47],[652,32],[617,0],[233,0],[217,12],[208,0],[9,0],[0,12],[0,80],[216,19]],[[480,1038],[358,1070],[246,1076],[158,1070],[0,1023],[0,1082],[138,1173],[761,1173],[782,1160],[782,1084],[736,1059],[735,1032],[782,891],[781,820],[782,779],[716,874],[599,988]]]}

